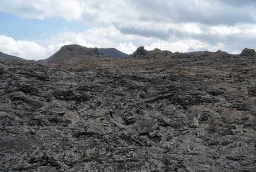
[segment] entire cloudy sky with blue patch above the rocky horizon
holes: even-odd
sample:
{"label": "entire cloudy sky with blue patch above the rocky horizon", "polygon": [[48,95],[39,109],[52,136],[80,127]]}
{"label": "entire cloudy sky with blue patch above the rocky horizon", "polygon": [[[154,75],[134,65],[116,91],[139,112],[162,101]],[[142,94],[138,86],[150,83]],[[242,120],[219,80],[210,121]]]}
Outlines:
{"label": "entire cloudy sky with blue patch above the rocky horizon", "polygon": [[44,59],[63,45],[239,54],[256,49],[255,0],[0,0],[0,52]]}

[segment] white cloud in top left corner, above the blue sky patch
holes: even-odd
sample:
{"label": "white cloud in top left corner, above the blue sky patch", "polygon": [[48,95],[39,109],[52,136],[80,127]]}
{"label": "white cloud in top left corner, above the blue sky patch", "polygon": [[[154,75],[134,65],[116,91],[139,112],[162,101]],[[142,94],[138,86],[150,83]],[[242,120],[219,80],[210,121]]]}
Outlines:
{"label": "white cloud in top left corner, above the blue sky patch", "polygon": [[0,11],[25,18],[63,17],[67,20],[78,20],[82,7],[77,0],[1,0]]}

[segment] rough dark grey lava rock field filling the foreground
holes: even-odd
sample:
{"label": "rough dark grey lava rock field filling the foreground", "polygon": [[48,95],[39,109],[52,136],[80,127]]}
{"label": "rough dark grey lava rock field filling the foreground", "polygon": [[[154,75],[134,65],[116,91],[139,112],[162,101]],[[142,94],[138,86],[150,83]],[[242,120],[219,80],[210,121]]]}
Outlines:
{"label": "rough dark grey lava rock field filling the foreground", "polygon": [[255,55],[0,61],[0,171],[256,171]]}

